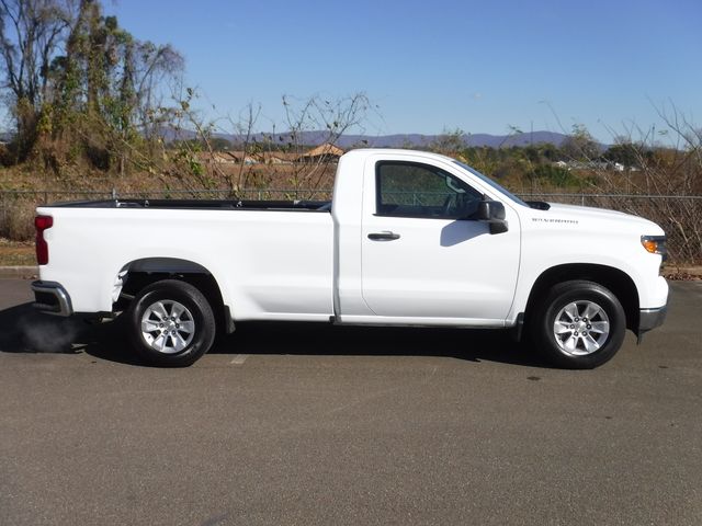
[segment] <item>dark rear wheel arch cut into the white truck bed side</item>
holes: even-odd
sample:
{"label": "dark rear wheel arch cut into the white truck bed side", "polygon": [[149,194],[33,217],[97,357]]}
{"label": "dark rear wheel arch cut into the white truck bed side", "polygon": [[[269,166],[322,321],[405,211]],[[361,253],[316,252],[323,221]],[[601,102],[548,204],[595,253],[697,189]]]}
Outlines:
{"label": "dark rear wheel arch cut into the white truck bed side", "polygon": [[225,332],[234,332],[234,321],[222,288],[208,268],[190,260],[178,258],[143,258],[126,263],[115,278],[113,310],[127,308],[145,287],[162,279],[179,279],[196,287],[210,302],[217,325]]}

